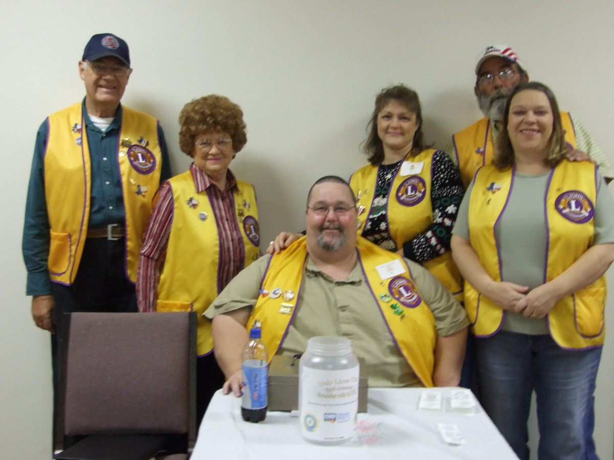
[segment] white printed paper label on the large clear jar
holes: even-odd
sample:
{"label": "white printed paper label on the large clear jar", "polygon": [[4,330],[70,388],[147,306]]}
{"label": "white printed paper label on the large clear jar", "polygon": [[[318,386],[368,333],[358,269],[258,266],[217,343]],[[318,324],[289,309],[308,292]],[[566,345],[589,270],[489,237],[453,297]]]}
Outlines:
{"label": "white printed paper label on the large clear jar", "polygon": [[301,434],[314,442],[350,439],[358,413],[359,366],[343,370],[302,367]]}

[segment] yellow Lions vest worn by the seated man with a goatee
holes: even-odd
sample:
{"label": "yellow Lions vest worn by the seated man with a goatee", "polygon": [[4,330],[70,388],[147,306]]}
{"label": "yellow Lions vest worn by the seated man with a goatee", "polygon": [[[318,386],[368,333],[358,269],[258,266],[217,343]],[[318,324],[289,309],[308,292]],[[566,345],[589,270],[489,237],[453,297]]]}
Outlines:
{"label": "yellow Lions vest worn by the seated man with a goatee", "polygon": [[[403,258],[359,237],[359,263],[373,294],[373,307],[381,311],[392,339],[424,386],[433,386],[435,319],[422,299]],[[382,283],[376,266],[398,259],[407,273]],[[294,318],[301,297],[301,282],[307,260],[306,238],[271,257],[263,277],[260,296],[247,328],[255,320],[262,323],[262,340],[270,358],[279,350]],[[284,286],[282,291],[278,286]],[[278,292],[276,292],[278,291]],[[287,295],[287,293],[292,294]],[[297,293],[297,294],[293,294]],[[392,302],[391,302],[392,301]]]}

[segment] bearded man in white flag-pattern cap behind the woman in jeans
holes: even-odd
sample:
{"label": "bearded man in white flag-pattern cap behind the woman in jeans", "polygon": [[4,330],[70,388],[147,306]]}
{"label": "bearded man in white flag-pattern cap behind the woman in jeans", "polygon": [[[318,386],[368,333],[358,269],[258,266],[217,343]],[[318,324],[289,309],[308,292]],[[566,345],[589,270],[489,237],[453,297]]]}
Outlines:
{"label": "bearded man in white flag-pattern cap behind the woman in jeans", "polygon": [[[446,148],[446,153],[461,170],[465,188],[480,167],[492,162],[493,145],[501,130],[507,97],[519,83],[529,81],[518,55],[503,45],[488,46],[480,53],[475,74],[473,91],[485,117],[454,134]],[[569,112],[561,112],[561,118],[565,140],[571,148],[568,158],[579,161],[588,159],[588,155],[599,166],[606,182],[610,182],[614,178],[614,169],[588,131]]]}

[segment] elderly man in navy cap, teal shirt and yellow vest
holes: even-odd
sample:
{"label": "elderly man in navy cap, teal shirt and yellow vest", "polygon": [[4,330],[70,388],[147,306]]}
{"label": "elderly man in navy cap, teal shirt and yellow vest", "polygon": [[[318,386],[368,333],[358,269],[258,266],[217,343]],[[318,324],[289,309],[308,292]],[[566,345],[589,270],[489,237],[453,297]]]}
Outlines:
{"label": "elderly man in navy cap, teal shirt and yellow vest", "polygon": [[85,98],[36,136],[22,247],[34,322],[52,332],[54,388],[63,313],[136,312],[142,234],[171,175],[158,120],[120,104],[131,73],[124,40],[91,37],[79,61]]}

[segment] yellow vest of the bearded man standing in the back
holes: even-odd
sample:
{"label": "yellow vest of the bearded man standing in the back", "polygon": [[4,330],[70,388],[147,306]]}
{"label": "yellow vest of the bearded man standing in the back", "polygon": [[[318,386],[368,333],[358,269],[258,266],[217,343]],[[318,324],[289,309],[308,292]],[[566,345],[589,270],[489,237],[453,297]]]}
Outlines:
{"label": "yellow vest of the bearded man standing in the back", "polygon": [[[575,131],[569,113],[561,112],[561,121],[565,130],[565,142],[575,148]],[[452,136],[456,160],[461,170],[462,183],[467,186],[473,175],[485,164],[492,163],[492,125],[488,117],[476,121],[473,125]]]}

